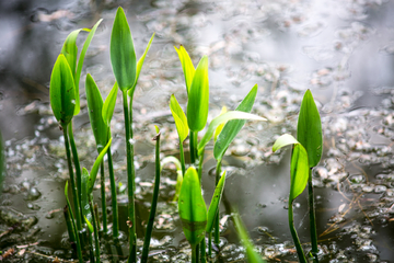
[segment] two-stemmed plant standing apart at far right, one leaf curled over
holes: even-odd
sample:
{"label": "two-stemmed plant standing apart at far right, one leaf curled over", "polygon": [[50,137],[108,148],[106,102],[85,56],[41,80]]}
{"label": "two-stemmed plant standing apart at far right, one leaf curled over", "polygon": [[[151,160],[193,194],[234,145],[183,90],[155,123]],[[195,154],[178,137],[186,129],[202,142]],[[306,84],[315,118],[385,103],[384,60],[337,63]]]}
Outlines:
{"label": "two-stemmed plant standing apart at far right, one leaf curled over", "polygon": [[317,233],[316,219],[314,215],[314,198],[312,185],[312,169],[322,157],[323,137],[320,114],[314,103],[312,93],[308,90],[301,103],[299,114],[297,138],[289,134],[280,136],[273,146],[276,151],[288,145],[293,145],[290,163],[290,195],[289,195],[289,226],[294,240],[297,253],[301,262],[306,262],[299,237],[293,224],[292,203],[304,191],[309,184],[310,226],[313,261],[317,259]]}

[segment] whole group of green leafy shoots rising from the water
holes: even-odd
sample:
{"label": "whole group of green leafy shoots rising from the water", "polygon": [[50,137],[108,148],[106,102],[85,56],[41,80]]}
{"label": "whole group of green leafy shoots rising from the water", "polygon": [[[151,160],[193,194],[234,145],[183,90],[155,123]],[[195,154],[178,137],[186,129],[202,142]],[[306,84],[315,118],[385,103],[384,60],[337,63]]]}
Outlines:
{"label": "whole group of green leafy shoots rising from the water", "polygon": [[[119,247],[120,244],[118,241],[119,224],[127,225],[129,229],[128,262],[137,262],[137,224],[135,213],[136,172],[134,167],[132,144],[132,100],[144,58],[151,46],[154,35],[152,35],[141,58],[137,60],[131,32],[126,15],[123,9],[118,8],[112,30],[109,48],[111,62],[116,82],[114,83],[114,87],[105,101],[103,101],[101,92],[92,76],[88,73],[85,79],[85,94],[89,117],[99,153],[91,171],[89,172],[85,168],[81,169],[79,162],[78,150],[73,139],[72,118],[80,112],[79,82],[84,55],[100,23],[101,20],[93,26],[92,30],[80,28],[69,34],[62,46],[61,53],[55,62],[50,78],[50,105],[54,115],[59,123],[60,129],[63,132],[70,175],[69,181],[72,194],[72,202],[70,202],[67,182],[65,187],[65,195],[67,199],[65,216],[70,241],[76,244],[77,256],[80,262],[84,262],[83,254],[89,254],[91,262],[100,262],[100,249],[102,247],[100,237],[108,237],[111,232],[112,239],[115,245],[117,245],[117,251],[120,256],[121,248]],[[86,31],[90,33],[84,42],[82,52],[78,59],[77,37],[81,31]],[[175,95],[172,95],[170,100],[170,108],[175,121],[175,126],[179,139],[179,160],[174,157],[166,157],[164,160],[160,160],[160,130],[155,126],[157,136],[153,138],[157,141],[154,191],[143,240],[144,242],[142,254],[140,255],[141,262],[148,261],[149,245],[159,196],[160,173],[161,168],[167,162],[174,162],[178,168],[176,195],[174,199],[178,198],[178,213],[182,220],[183,230],[192,247],[192,262],[207,262],[212,260],[212,243],[219,247],[220,241],[219,206],[225,183],[225,171],[222,171],[221,167],[222,159],[228,147],[236,137],[247,119],[266,121],[263,117],[251,114],[257,95],[257,85],[255,85],[234,111],[227,111],[227,108],[223,107],[221,114],[213,118],[209,125],[207,125],[209,110],[208,57],[204,56],[195,68],[189,55],[183,46],[179,48],[175,47],[175,49],[182,64],[187,93],[186,114],[175,99]],[[119,222],[118,220],[116,182],[111,151],[111,121],[114,113],[118,90],[120,90],[123,98],[126,134],[125,145],[127,152],[126,158],[128,179],[127,222]],[[199,134],[204,129],[204,135]],[[318,112],[310,91],[306,92],[301,106],[298,130],[298,140],[296,140],[290,135],[283,135],[276,141],[274,150],[279,149],[286,145],[294,145],[291,160],[289,221],[300,260],[302,262],[306,262],[292,224],[291,204],[293,199],[301,194],[305,187],[306,181],[309,181],[312,204],[311,222],[314,222],[311,168],[316,165],[320,160],[322,152],[322,133]],[[311,136],[310,133],[316,133],[317,135]],[[201,193],[201,174],[204,169],[202,163],[205,148],[212,139],[212,137],[213,157],[217,161],[216,190],[210,206],[207,209]],[[189,145],[190,163],[185,163],[185,153],[183,147],[187,138]],[[317,159],[316,151],[318,156]],[[107,198],[105,196],[105,156],[107,157],[106,162],[111,182],[112,227],[109,227],[111,225],[106,214]],[[99,211],[94,204],[92,194],[99,170],[101,174],[100,178],[102,195],[101,220],[99,220]],[[237,229],[237,233],[244,247],[246,248],[248,261],[263,262],[262,258],[254,250],[245,227],[243,226],[241,218],[235,209],[233,213],[233,222]],[[312,242],[312,254],[315,256],[317,253],[315,227],[312,229],[312,231],[314,231],[312,233],[312,237],[314,237]],[[90,251],[90,253],[84,253],[86,250]]]}

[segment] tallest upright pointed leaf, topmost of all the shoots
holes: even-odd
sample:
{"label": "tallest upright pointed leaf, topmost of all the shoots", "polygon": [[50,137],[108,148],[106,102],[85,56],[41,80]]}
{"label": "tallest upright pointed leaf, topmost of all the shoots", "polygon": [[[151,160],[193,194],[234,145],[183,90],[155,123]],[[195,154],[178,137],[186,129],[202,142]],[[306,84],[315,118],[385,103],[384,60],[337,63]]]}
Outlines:
{"label": "tallest upright pointed leaf, topmost of all the shoots", "polygon": [[130,89],[137,75],[137,58],[125,12],[118,8],[111,34],[111,64],[120,90]]}

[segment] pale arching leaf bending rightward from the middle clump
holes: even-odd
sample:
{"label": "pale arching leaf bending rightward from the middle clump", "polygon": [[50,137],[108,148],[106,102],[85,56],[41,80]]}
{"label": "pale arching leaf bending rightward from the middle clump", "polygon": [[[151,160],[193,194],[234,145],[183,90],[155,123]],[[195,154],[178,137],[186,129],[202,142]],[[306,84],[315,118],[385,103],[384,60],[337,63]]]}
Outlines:
{"label": "pale arching leaf bending rightward from the middle clump", "polygon": [[[230,111],[224,113],[223,115],[219,115],[218,117],[213,118],[212,122],[209,124],[207,132],[205,133],[204,137],[201,138],[200,142],[198,144],[198,155],[201,155],[202,149],[212,138],[215,129],[222,123],[225,123],[231,119],[254,119],[254,121],[266,121],[266,118],[251,114],[245,112],[239,111]],[[225,128],[225,125],[224,125]]]}

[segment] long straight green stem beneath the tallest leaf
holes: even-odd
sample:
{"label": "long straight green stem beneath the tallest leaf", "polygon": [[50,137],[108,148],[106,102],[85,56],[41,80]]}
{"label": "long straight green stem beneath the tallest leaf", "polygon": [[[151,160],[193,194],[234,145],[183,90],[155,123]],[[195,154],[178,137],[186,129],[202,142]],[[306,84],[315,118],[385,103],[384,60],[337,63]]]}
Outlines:
{"label": "long straight green stem beneath the tallest leaf", "polygon": [[[129,115],[127,104],[127,90],[123,90],[124,117],[126,130],[126,153],[127,153],[127,186],[128,186],[128,220],[129,220],[129,263],[137,262],[137,236],[136,236],[136,211],[135,211],[135,173],[134,173],[134,146],[131,145],[132,129],[130,123],[132,115]],[[132,100],[132,98],[130,98]],[[130,105],[131,102],[130,102]],[[130,108],[132,111],[132,108]]]}

